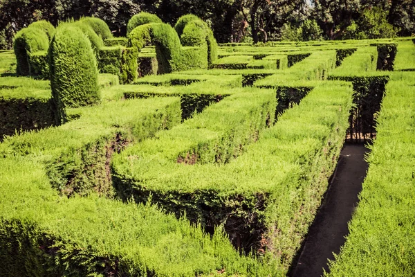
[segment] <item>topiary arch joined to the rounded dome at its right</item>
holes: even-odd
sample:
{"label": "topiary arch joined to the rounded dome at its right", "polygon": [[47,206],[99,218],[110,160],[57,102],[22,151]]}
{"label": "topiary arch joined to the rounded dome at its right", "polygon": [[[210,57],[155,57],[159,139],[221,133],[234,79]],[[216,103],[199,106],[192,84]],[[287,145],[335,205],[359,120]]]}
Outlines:
{"label": "topiary arch joined to the rounded dome at its right", "polygon": [[[206,69],[216,59],[216,40],[208,24],[192,17],[181,30],[181,37],[172,26],[164,23],[140,25],[129,33],[130,45],[138,51],[148,45],[156,46],[158,73],[187,69]],[[178,21],[178,26],[183,25]],[[182,41],[181,41],[182,39]],[[183,47],[183,46],[185,47]]]}

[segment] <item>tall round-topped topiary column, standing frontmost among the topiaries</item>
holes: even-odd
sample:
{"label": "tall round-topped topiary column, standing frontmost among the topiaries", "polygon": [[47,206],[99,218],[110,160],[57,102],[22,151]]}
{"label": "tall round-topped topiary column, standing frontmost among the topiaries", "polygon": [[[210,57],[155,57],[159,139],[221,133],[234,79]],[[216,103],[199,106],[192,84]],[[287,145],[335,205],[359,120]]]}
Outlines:
{"label": "tall round-topped topiary column, standing frontmost among the topiaries", "polygon": [[57,124],[66,121],[66,107],[100,100],[98,68],[91,42],[76,24],[63,24],[49,47],[50,85]]}

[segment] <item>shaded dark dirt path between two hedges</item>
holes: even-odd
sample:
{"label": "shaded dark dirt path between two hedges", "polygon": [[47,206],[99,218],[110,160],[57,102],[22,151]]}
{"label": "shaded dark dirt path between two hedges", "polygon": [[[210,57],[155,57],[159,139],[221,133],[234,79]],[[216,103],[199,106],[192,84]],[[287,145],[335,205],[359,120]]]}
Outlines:
{"label": "shaded dark dirt path between two hedges", "polygon": [[319,277],[327,271],[327,259],[339,253],[344,236],[349,233],[347,222],[358,204],[358,193],[367,172],[363,145],[345,144],[340,161],[320,211],[308,231],[292,277]]}

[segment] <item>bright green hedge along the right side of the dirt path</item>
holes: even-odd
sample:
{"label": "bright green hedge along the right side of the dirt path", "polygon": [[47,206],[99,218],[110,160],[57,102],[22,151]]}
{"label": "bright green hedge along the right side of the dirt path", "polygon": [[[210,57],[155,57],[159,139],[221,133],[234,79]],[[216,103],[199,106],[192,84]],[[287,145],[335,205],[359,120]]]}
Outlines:
{"label": "bright green hedge along the right side of the dirt path", "polygon": [[[413,77],[406,75],[407,81]],[[409,77],[409,78],[408,78]],[[325,276],[413,276],[414,93],[392,77],[350,234]]]}

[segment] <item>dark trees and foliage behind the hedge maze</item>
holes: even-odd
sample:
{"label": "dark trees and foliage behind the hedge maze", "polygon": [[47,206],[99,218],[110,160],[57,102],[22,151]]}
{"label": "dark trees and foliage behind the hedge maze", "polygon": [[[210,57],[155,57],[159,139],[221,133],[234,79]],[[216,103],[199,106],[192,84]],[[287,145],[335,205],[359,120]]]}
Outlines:
{"label": "dark trees and foliage behind the hedge maze", "polygon": [[140,11],[171,25],[192,13],[210,24],[217,42],[362,39],[415,33],[413,0],[0,0],[0,48],[33,21],[99,17],[116,36]]}

